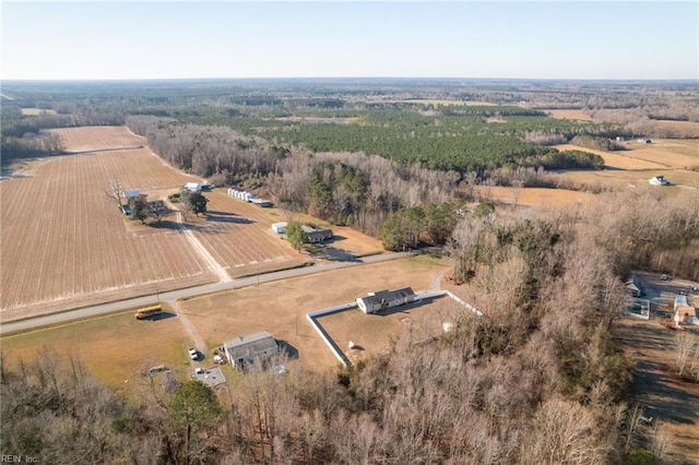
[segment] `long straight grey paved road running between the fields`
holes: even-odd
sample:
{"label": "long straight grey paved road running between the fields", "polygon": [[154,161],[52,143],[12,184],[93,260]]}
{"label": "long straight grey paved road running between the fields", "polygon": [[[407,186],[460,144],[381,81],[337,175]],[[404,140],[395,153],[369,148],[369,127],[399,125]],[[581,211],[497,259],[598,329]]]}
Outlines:
{"label": "long straight grey paved road running between the fields", "polygon": [[162,293],[158,296],[143,296],[133,299],[111,301],[100,303],[92,307],[84,307],[81,309],[69,310],[60,313],[54,313],[43,317],[35,317],[26,320],[12,321],[0,324],[0,335],[19,333],[31,331],[42,326],[48,326],[59,323],[66,323],[73,320],[82,320],[90,317],[96,317],[106,313],[112,313],[119,310],[127,310],[137,307],[151,306],[157,301],[175,301],[177,299],[186,297],[194,297],[203,294],[217,293],[228,289],[237,289],[239,287],[251,286],[259,283],[268,283],[271,281],[285,279],[289,277],[304,276],[313,273],[321,273],[331,270],[339,270],[347,266],[357,266],[367,263],[383,262],[387,260],[395,260],[404,257],[414,255],[415,252],[396,252],[396,253],[382,253],[378,255],[369,255],[355,261],[344,262],[325,262],[319,263],[313,266],[306,266],[294,270],[284,270],[273,273],[265,273],[256,276],[249,276],[238,279],[218,282],[213,284],[204,284],[201,286],[189,287],[186,289],[171,290],[169,293]]}

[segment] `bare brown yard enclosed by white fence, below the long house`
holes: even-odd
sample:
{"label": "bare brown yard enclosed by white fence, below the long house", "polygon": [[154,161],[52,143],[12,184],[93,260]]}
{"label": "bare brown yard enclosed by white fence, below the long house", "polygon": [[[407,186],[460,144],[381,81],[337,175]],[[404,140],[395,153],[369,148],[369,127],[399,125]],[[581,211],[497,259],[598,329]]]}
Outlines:
{"label": "bare brown yard enclosed by white fence, below the long house", "polygon": [[[392,341],[422,343],[443,334],[445,323],[457,323],[469,310],[449,297],[389,309],[382,314],[364,314],[358,308],[319,317],[318,323],[350,361],[388,353]],[[351,349],[350,341],[356,344]]]}

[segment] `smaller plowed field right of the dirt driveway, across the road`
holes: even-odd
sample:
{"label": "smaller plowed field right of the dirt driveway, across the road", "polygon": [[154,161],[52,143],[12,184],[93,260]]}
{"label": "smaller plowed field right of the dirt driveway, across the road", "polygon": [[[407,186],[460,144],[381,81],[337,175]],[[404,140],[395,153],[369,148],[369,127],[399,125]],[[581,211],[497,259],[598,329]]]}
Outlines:
{"label": "smaller plowed field right of the dirt driveway, across the road", "polygon": [[223,192],[206,193],[205,223],[194,235],[232,277],[300,265],[306,261],[275,237],[264,210]]}

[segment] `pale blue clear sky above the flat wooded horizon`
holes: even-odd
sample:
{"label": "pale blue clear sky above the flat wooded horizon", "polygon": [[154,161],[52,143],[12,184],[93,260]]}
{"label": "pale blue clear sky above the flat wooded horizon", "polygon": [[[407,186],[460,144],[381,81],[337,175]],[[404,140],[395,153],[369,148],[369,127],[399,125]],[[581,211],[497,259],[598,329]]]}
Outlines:
{"label": "pale blue clear sky above the flat wooded horizon", "polygon": [[1,2],[2,80],[699,79],[697,1]]}

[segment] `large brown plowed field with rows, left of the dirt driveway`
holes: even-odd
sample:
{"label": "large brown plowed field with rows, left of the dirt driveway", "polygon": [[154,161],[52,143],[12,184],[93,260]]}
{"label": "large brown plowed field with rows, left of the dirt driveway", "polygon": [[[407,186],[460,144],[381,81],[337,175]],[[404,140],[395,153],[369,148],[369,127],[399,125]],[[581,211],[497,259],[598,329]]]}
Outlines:
{"label": "large brown plowed field with rows, left of the dirt driveway", "polygon": [[[79,131],[82,147],[134,142],[123,129],[86,128],[93,142]],[[117,178],[146,193],[191,180],[146,148],[43,158],[22,172],[0,183],[3,321],[215,279],[178,229],[133,231],[106,199]]]}

